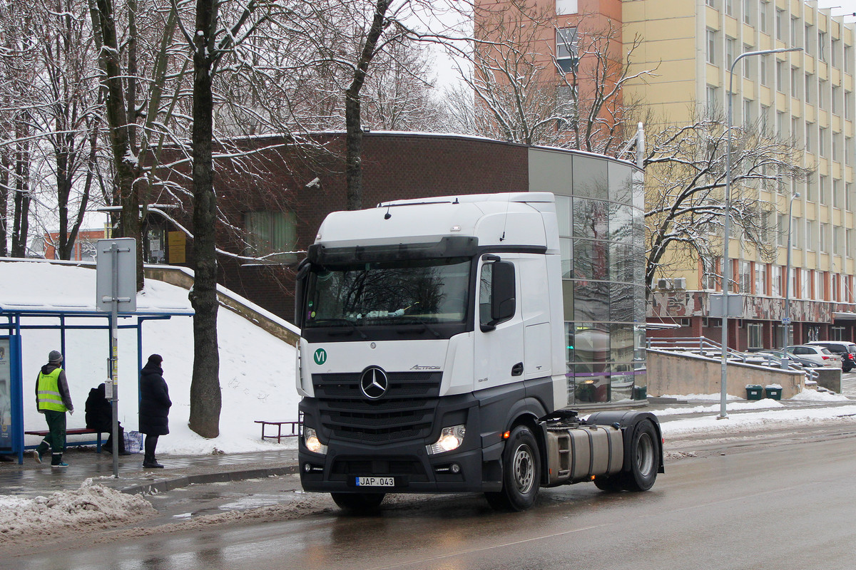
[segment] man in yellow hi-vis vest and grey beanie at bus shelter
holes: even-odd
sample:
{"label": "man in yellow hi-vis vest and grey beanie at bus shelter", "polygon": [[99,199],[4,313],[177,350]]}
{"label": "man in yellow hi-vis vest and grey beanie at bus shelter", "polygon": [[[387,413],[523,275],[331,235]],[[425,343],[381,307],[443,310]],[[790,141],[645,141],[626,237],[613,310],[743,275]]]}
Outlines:
{"label": "man in yellow hi-vis vest and grey beanie at bus shelter", "polygon": [[51,467],[68,467],[62,461],[62,451],[65,450],[65,413],[74,414],[71,403],[71,393],[68,391],[68,381],[62,370],[62,355],[57,350],[51,350],[48,363],[39,371],[36,380],[36,406],[39,412],[45,414],[50,433],[35,450],[36,461],[42,462],[42,455],[51,449]]}

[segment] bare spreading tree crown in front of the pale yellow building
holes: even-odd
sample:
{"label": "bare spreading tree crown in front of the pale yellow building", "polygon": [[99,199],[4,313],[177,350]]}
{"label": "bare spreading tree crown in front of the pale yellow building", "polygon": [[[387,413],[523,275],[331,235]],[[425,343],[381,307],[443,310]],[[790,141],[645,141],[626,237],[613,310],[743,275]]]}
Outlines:
{"label": "bare spreading tree crown in front of the pale yellow building", "polygon": [[[703,261],[714,267],[722,248],[725,155],[728,132],[721,115],[700,116],[691,125],[664,126],[647,137],[645,226],[648,232],[645,285],[669,269]],[[799,165],[794,141],[764,132],[760,124],[732,128],[732,237],[763,259],[776,254],[773,203],[758,200],[758,188],[785,191],[810,171]],[[667,255],[667,252],[669,255]]]}

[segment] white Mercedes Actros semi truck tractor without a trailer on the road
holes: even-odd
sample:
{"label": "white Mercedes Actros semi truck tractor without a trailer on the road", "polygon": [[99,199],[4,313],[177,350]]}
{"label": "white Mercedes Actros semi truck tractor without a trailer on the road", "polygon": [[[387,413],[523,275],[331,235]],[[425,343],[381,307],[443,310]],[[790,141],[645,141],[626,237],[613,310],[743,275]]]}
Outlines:
{"label": "white Mercedes Actros semi truck tractor without a trailer on the road", "polygon": [[326,217],[297,275],[300,479],[342,508],[386,493],[646,491],[657,418],[568,406],[547,192],[434,197]]}

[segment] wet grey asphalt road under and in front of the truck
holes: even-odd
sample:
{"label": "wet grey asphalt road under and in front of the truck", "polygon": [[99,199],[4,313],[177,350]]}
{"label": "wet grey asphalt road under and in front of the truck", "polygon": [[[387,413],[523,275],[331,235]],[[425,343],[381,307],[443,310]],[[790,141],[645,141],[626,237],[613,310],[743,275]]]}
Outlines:
{"label": "wet grey asphalt road under and in front of the truck", "polygon": [[[324,511],[332,505],[328,498],[301,496],[288,478],[245,482],[258,485],[252,496],[279,502],[309,497],[320,510],[295,520],[175,526],[86,549],[27,555],[16,558],[15,567],[849,570],[856,560],[853,431],[795,432],[673,461],[646,493],[606,494],[591,484],[546,490],[535,508],[520,514],[495,514],[483,497],[462,495],[394,496],[376,516],[353,516]],[[235,502],[247,500],[232,485],[211,491],[212,509],[222,511],[223,494],[233,491]],[[199,514],[206,508],[196,499],[182,504],[174,491],[163,499],[171,505],[163,517],[172,520],[192,517],[191,507]]]}

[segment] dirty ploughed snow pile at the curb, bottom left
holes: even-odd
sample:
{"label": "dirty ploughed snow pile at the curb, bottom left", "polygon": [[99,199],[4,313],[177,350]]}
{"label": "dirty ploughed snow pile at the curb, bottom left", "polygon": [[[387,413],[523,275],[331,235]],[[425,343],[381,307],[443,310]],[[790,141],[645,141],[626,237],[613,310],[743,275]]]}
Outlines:
{"label": "dirty ploughed snow pile at the curb, bottom left", "polygon": [[56,491],[47,497],[0,496],[0,544],[33,532],[44,536],[109,528],[152,514],[157,511],[143,497],[93,485],[92,479],[86,479],[80,489]]}

